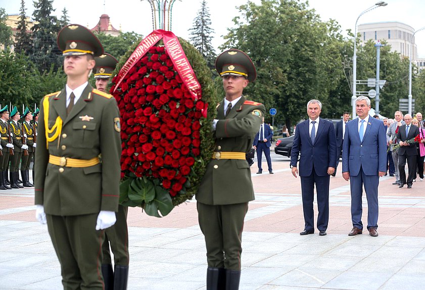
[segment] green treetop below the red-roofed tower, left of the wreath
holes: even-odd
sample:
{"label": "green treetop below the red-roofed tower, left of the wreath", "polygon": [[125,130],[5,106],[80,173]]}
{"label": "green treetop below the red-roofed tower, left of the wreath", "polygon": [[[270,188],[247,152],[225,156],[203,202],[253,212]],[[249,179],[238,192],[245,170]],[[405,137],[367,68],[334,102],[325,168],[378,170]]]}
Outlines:
{"label": "green treetop below the red-roofed tower, left of the wreath", "polygon": [[129,49],[136,43],[141,41],[142,35],[134,31],[120,33],[118,36],[112,36],[105,33],[95,33],[101,41],[105,53],[112,55],[118,61]]}

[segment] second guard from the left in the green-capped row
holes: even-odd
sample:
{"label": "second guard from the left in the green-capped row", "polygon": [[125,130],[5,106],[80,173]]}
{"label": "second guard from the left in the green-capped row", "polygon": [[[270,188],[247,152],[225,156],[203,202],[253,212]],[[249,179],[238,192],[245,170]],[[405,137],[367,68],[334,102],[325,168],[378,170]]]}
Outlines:
{"label": "second guard from the left in the green-capped row", "polygon": [[19,178],[19,163],[21,161],[22,153],[24,150],[28,150],[28,146],[22,143],[22,131],[21,124],[18,120],[21,118],[21,113],[18,112],[18,107],[14,107],[10,113],[12,121],[10,121],[10,134],[12,135],[13,142],[13,156],[10,158],[10,187],[12,188],[23,188],[18,183]]}

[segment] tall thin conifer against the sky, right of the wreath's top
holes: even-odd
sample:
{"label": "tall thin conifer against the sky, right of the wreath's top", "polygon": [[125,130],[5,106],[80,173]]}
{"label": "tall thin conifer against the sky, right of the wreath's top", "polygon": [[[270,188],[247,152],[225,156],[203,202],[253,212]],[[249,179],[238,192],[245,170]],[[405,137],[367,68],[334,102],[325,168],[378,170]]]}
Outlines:
{"label": "tall thin conifer against the sky, right of the wreath's top", "polygon": [[214,69],[215,52],[211,44],[214,29],[211,28],[211,15],[205,0],[202,1],[201,9],[194,19],[193,28],[189,31],[191,43],[207,61],[208,67]]}

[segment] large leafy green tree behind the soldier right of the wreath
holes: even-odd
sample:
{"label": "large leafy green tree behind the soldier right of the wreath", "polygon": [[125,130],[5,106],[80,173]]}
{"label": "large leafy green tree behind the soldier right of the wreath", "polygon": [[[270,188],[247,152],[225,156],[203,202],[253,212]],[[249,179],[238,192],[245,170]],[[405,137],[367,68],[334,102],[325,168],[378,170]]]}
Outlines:
{"label": "large leafy green tree behind the soldier right of the wreath", "polygon": [[250,99],[276,108],[277,121],[288,127],[307,117],[311,99],[322,102],[324,117],[335,110],[329,95],[345,79],[335,21],[322,22],[297,0],[248,2],[238,15],[220,48],[237,47],[253,60],[257,80],[246,89]]}

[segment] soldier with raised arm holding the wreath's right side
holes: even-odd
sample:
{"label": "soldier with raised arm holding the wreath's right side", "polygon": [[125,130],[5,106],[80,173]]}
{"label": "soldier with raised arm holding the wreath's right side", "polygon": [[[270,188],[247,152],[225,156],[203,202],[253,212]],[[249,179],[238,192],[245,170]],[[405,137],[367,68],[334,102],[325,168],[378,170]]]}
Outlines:
{"label": "soldier with raised arm holding the wreath's right side", "polygon": [[254,200],[251,171],[245,159],[262,122],[262,104],[242,92],[256,78],[251,59],[228,50],[215,62],[226,96],[217,109],[215,152],[196,199],[199,225],[207,248],[207,289],[237,290],[241,277],[242,229],[248,202]]}

